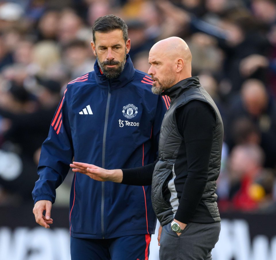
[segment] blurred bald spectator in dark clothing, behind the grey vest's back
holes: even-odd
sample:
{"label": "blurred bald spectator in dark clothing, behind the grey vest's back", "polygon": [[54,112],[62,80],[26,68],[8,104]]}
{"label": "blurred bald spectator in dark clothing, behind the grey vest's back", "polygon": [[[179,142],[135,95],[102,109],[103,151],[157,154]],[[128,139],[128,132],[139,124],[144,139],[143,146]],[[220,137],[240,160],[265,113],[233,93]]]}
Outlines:
{"label": "blurred bald spectator in dark clothing, behind the grey vest's back", "polygon": [[[239,129],[236,121],[241,118],[248,118],[251,123],[246,127],[240,125]],[[245,121],[248,122],[248,121]],[[250,124],[254,124],[251,127]],[[275,101],[268,96],[264,84],[256,79],[249,79],[244,82],[241,88],[241,94],[232,99],[228,110],[225,124],[225,141],[229,149],[237,144],[237,131],[239,139],[241,131],[247,131],[247,141],[250,138],[255,142],[259,141],[260,146],[265,151],[266,159],[264,166],[274,168],[276,164],[276,105]],[[244,129],[242,130],[243,127]],[[251,128],[251,132],[246,130]],[[253,132],[256,130],[255,133]],[[259,132],[259,133],[258,133]],[[254,135],[253,135],[254,134]],[[257,135],[259,137],[257,137]],[[259,140],[258,140],[259,139]],[[251,140],[252,141],[252,140]],[[239,140],[241,142],[241,140]],[[246,140],[244,140],[246,142]]]}

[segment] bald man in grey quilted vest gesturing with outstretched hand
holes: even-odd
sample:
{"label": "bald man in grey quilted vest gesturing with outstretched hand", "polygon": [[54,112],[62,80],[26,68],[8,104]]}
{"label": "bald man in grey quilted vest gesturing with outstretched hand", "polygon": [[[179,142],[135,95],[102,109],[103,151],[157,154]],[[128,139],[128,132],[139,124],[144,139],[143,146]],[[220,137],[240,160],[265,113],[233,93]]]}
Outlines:
{"label": "bald man in grey quilted vest gesturing with outstretched hand", "polygon": [[70,165],[74,172],[99,181],[152,184],[152,206],[162,227],[161,260],[212,259],[221,228],[215,191],[223,123],[198,77],[191,76],[191,60],[189,47],[178,37],[161,40],[150,50],[152,92],[171,100],[154,164],[116,170],[78,162]]}

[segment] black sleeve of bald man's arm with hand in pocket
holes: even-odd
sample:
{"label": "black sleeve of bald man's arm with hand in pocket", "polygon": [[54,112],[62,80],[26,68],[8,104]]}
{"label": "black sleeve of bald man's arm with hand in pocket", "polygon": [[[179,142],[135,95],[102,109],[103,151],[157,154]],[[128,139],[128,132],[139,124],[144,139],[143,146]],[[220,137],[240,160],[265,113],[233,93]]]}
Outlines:
{"label": "black sleeve of bald man's arm with hand in pocket", "polygon": [[210,105],[193,100],[176,110],[176,120],[185,140],[188,174],[175,219],[187,224],[207,183],[216,116]]}

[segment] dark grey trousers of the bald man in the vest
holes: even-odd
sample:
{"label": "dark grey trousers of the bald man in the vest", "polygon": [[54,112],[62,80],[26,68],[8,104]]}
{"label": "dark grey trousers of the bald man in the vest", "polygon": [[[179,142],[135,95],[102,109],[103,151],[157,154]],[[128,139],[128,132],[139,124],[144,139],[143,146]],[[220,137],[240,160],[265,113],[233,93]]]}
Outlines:
{"label": "dark grey trousers of the bald man in the vest", "polygon": [[180,236],[170,223],[163,226],[160,237],[160,260],[211,260],[211,251],[221,231],[221,223],[188,223]]}

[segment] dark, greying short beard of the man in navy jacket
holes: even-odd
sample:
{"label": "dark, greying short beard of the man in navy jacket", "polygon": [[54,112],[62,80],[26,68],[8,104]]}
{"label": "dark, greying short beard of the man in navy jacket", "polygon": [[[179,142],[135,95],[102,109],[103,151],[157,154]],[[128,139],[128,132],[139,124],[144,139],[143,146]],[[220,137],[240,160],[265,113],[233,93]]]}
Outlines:
{"label": "dark, greying short beard of the man in navy jacket", "polygon": [[[97,55],[97,53],[96,53],[96,55]],[[120,61],[103,61],[103,62],[100,62],[99,58],[98,58],[98,55],[97,55],[97,59],[98,59],[98,64],[99,64],[99,67],[100,67],[101,71],[104,73],[104,75],[107,78],[117,78],[122,73],[122,71],[124,70],[124,65],[125,65],[126,60],[127,60],[127,50],[125,51],[124,59],[121,62]],[[119,67],[117,69],[116,68],[107,68],[106,65],[119,65]]]}

